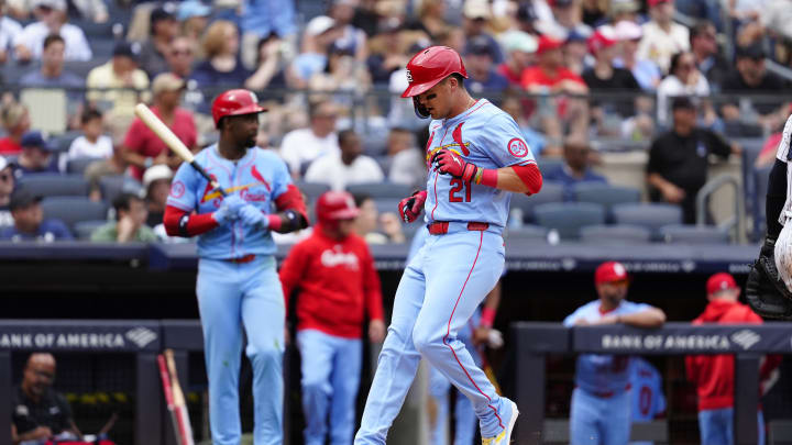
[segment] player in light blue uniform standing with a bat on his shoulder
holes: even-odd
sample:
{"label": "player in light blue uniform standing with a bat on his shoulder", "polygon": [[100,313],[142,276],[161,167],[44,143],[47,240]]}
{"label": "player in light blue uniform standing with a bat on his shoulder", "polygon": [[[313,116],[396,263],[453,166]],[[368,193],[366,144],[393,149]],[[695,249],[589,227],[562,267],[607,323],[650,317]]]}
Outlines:
{"label": "player in light blue uniform standing with a bat on his shoulder", "polygon": [[254,443],[283,441],[285,309],[271,232],[304,229],[308,218],[284,162],[255,146],[258,113],[266,111],[257,102],[253,92],[242,89],[215,100],[212,118],[220,140],[198,153],[195,162],[182,164],[164,218],[168,235],[198,236],[196,293],[216,445],[240,443],[241,327],[253,366]]}

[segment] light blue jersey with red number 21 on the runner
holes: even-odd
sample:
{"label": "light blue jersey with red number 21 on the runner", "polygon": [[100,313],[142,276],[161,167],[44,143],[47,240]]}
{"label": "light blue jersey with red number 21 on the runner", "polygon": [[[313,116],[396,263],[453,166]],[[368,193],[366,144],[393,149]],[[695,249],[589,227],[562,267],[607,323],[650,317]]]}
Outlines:
{"label": "light blue jersey with red number 21 on the runner", "polygon": [[429,124],[425,205],[427,223],[435,221],[486,222],[506,225],[510,193],[492,187],[463,182],[431,169],[432,156],[442,148],[483,168],[536,164],[517,123],[506,112],[479,99],[463,113]]}

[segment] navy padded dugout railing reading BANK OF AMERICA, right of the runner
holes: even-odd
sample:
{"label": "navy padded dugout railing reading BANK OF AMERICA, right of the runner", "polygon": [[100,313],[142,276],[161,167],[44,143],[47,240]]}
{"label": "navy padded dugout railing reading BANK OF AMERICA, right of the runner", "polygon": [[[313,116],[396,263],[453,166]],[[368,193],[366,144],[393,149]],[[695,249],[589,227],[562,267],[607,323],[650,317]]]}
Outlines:
{"label": "navy padded dugout railing reading BANK OF AMERICA, right of the runner", "polygon": [[792,329],[788,323],[700,326],[667,323],[660,329],[644,330],[625,325],[564,327],[559,323],[518,322],[512,325],[512,340],[516,353],[515,396],[521,410],[516,443],[520,445],[546,441],[546,364],[550,354],[734,354],[737,445],[757,443],[761,356],[792,354]]}

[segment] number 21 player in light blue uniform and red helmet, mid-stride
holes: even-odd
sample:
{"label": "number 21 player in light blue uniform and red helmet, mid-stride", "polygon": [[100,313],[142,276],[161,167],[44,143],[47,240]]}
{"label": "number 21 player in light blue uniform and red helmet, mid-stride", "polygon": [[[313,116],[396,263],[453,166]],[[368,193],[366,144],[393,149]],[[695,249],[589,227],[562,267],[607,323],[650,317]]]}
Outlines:
{"label": "number 21 player in light blue uniform and red helmet, mid-stride", "polygon": [[509,443],[517,405],[499,397],[459,332],[504,267],[507,191],[536,193],[541,174],[514,120],[463,86],[462,59],[433,46],[407,65],[416,112],[429,125],[427,190],[399,203],[407,222],[426,210],[430,236],[399,282],[388,334],[355,444],[385,444],[421,358],[473,404],[484,445]]}

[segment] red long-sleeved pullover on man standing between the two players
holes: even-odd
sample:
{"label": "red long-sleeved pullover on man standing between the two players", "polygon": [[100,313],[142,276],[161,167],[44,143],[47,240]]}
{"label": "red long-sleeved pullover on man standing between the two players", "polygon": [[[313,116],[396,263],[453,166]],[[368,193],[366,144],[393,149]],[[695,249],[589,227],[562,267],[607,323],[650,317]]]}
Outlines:
{"label": "red long-sleeved pullover on man standing between the two players", "polygon": [[363,315],[383,320],[380,276],[365,241],[358,235],[333,240],[321,225],[297,243],[280,268],[286,307],[297,290],[297,330],[360,338]]}

